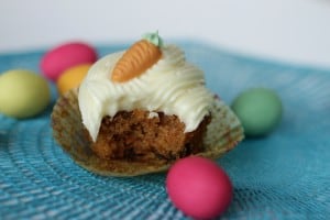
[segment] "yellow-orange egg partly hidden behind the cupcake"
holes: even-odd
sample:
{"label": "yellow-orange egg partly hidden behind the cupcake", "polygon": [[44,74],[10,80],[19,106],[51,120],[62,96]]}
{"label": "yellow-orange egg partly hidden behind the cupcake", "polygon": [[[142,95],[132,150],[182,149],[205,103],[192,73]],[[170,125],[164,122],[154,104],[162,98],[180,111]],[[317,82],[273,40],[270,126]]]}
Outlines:
{"label": "yellow-orange egg partly hidden behind the cupcake", "polygon": [[57,80],[57,90],[59,95],[64,95],[70,89],[77,88],[85,76],[91,64],[80,64],[66,69]]}

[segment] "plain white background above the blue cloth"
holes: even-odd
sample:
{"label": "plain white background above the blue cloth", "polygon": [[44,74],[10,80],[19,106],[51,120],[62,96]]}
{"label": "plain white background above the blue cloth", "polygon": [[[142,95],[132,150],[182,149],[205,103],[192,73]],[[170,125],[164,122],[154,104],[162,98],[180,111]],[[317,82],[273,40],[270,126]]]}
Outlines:
{"label": "plain white background above the blue cloth", "polygon": [[330,68],[330,0],[0,0],[0,53],[131,42],[153,30]]}

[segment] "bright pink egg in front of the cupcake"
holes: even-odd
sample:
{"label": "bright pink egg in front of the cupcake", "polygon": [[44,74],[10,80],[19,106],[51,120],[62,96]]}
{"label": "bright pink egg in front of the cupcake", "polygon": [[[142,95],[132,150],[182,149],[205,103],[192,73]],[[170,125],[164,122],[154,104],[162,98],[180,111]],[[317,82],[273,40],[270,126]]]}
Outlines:
{"label": "bright pink egg in front of the cupcake", "polygon": [[189,217],[216,218],[232,200],[232,184],[215,162],[190,156],[176,162],[166,178],[166,188],[173,204]]}

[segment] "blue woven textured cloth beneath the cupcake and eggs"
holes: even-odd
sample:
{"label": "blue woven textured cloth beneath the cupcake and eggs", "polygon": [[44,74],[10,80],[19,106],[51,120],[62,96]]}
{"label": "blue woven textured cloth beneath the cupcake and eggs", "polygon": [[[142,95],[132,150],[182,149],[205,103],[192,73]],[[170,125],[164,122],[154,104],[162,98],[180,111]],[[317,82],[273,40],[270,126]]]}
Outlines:
{"label": "blue woven textured cloth beneath the cupcake and eggs", "polygon": [[[329,219],[330,72],[178,44],[227,103],[256,86],[274,88],[284,103],[283,121],[270,136],[244,140],[218,160],[234,185],[221,219]],[[102,56],[124,46],[98,50]],[[0,73],[38,72],[42,55],[0,55]],[[167,198],[166,174],[101,177],[77,166],[52,138],[51,111],[20,121],[0,114],[0,219],[187,218]]]}

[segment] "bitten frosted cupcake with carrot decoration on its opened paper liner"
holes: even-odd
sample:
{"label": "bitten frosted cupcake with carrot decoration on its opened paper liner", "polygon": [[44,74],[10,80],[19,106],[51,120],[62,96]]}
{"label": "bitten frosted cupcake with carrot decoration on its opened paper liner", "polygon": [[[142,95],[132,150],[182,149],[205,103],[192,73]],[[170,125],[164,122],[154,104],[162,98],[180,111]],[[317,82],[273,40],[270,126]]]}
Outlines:
{"label": "bitten frosted cupcake with carrot decoration on its opened paper liner", "polygon": [[63,148],[101,175],[164,170],[189,155],[217,158],[243,139],[202,70],[157,33],[98,61],[79,89],[58,99],[52,122]]}

